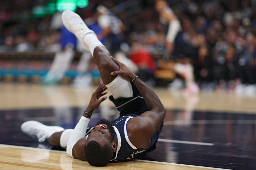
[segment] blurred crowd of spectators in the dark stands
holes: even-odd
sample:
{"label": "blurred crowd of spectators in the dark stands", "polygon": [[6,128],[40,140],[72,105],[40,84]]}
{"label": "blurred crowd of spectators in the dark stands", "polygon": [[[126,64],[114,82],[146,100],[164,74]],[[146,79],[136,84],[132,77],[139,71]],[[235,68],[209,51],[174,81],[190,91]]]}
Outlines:
{"label": "blurred crowd of spectators in the dark stands", "polygon": [[[1,1],[0,52],[56,52],[67,45],[76,46],[72,35],[68,38],[72,40],[66,42],[60,13],[32,15],[35,7],[48,2]],[[202,89],[256,92],[256,0],[167,0],[167,3],[181,23],[180,37],[186,44],[184,53],[172,56],[171,60],[188,59]],[[103,17],[106,10],[111,15]],[[155,0],[128,3],[92,0],[76,12],[87,25],[90,23],[112,53],[130,54],[128,57],[145,77],[152,77],[161,60],[153,55],[163,55],[166,36]],[[174,44],[174,48],[178,47],[179,43]]]}

